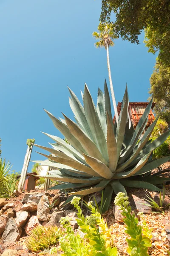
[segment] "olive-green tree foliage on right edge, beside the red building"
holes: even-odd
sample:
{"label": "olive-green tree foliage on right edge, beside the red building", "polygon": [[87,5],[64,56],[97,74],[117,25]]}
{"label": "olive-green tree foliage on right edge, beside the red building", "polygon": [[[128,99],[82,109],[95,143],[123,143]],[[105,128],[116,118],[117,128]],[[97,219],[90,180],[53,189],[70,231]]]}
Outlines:
{"label": "olive-green tree foliage on right edge, beside the red building", "polygon": [[156,102],[156,114],[170,125],[170,67],[165,67],[158,60],[150,77],[150,95]]}

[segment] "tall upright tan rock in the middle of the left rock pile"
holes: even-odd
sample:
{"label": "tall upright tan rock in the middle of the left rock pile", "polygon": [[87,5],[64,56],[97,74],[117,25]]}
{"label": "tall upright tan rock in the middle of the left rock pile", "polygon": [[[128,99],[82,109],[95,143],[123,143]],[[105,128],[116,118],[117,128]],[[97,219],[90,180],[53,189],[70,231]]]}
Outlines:
{"label": "tall upright tan rock in the middle of the left rock pile", "polygon": [[40,202],[38,203],[37,217],[39,221],[49,221],[49,219],[51,218],[51,211],[49,209],[47,201],[45,201],[45,198],[48,199],[46,195],[42,196]]}

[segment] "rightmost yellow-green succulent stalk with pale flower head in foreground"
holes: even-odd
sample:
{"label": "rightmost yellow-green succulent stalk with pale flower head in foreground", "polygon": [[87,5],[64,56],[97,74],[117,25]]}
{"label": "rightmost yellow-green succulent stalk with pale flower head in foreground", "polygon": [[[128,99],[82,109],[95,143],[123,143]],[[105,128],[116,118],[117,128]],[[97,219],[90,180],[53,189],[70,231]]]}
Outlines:
{"label": "rightmost yellow-green succulent stalk with pale flower head in foreground", "polygon": [[121,214],[125,216],[123,218],[126,224],[125,233],[130,236],[130,239],[126,239],[128,244],[127,252],[131,256],[149,256],[147,253],[148,247],[151,247],[152,229],[147,227],[146,222],[143,225],[138,224],[138,218],[135,214],[131,214],[131,207],[129,206],[128,197],[125,193],[119,192],[114,200],[114,204],[118,205],[122,210]]}

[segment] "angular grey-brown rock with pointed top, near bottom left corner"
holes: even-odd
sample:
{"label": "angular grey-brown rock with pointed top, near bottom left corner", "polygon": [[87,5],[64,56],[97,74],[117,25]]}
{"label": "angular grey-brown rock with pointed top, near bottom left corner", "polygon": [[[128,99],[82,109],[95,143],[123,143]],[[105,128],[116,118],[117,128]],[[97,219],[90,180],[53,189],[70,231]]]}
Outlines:
{"label": "angular grey-brown rock with pointed top, near bottom left corner", "polygon": [[22,229],[17,227],[14,218],[10,218],[6,224],[5,231],[3,232],[2,241],[4,243],[13,243],[20,239]]}

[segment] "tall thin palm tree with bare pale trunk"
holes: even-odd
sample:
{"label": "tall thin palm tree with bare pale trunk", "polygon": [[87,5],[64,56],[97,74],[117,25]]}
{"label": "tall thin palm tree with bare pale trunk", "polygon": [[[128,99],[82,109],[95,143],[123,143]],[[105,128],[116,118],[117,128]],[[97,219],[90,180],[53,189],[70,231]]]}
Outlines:
{"label": "tall thin palm tree with bare pale trunk", "polygon": [[99,23],[98,26],[99,32],[93,32],[93,36],[99,41],[95,43],[95,46],[97,48],[99,47],[105,47],[107,51],[107,63],[108,63],[108,75],[109,75],[109,82],[111,87],[111,96],[113,100],[113,108],[114,113],[116,117],[116,122],[118,123],[118,112],[117,112],[117,106],[116,106],[116,99],[114,96],[114,90],[113,90],[113,83],[111,79],[111,67],[110,67],[110,60],[109,60],[109,47],[114,45],[114,39],[116,39],[116,35],[114,35],[113,32],[113,26],[112,24],[106,24],[106,23]]}

